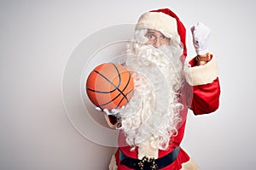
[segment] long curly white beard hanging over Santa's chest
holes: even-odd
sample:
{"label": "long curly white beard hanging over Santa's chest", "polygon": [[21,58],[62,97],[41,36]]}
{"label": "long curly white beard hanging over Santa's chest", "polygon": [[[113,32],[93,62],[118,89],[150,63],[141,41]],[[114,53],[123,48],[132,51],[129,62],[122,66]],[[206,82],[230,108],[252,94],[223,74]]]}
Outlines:
{"label": "long curly white beard hanging over Santa's chest", "polygon": [[[119,113],[126,143],[132,147],[151,141],[151,147],[166,150],[170,137],[177,134],[183,105],[178,101],[183,85],[179,46],[157,49],[132,42],[125,56],[135,91],[125,109]],[[166,56],[167,55],[167,56]]]}

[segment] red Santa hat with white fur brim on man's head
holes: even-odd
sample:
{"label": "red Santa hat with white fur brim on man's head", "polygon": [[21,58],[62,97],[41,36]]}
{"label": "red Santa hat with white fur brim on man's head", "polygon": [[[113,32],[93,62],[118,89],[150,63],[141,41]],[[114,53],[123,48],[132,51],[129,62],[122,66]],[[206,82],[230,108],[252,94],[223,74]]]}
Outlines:
{"label": "red Santa hat with white fur brim on man's head", "polygon": [[139,18],[135,29],[153,29],[160,31],[166,37],[178,39],[183,45],[183,56],[181,59],[184,61],[187,56],[186,29],[177,15],[169,8],[160,8],[144,13]]}

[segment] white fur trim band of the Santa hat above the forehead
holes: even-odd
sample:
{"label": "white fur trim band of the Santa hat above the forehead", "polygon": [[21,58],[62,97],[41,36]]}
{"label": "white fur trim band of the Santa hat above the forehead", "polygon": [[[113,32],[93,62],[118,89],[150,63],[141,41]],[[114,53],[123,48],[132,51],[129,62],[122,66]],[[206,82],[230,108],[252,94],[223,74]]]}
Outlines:
{"label": "white fur trim band of the Santa hat above the forehead", "polygon": [[136,30],[140,29],[160,31],[166,37],[179,37],[176,19],[161,12],[144,13],[137,22]]}

